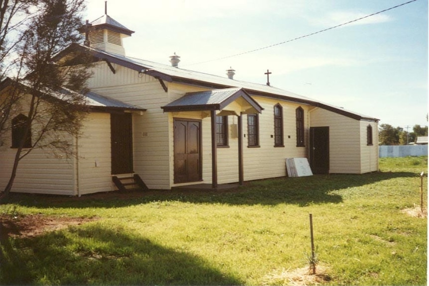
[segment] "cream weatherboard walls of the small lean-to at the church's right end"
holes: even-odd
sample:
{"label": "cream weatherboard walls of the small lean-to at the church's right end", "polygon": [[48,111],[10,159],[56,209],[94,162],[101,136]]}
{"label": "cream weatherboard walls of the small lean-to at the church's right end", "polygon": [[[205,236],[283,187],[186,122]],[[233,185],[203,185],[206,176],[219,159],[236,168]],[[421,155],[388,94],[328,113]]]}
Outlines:
{"label": "cream weatherboard walls of the small lean-to at the church's right end", "polygon": [[311,127],[329,126],[329,173],[362,174],[378,170],[378,157],[374,157],[378,138],[374,138],[374,146],[366,144],[366,126],[371,124],[375,134],[376,122],[353,119],[319,107],[311,109],[309,117]]}

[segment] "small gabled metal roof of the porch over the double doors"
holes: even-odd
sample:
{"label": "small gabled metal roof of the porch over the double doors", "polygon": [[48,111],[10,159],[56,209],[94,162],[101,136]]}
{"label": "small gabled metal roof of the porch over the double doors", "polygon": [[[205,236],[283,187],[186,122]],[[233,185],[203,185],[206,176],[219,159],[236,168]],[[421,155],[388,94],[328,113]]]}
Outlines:
{"label": "small gabled metal roof of the porch over the double doors", "polygon": [[222,110],[240,97],[249,104],[249,109],[253,109],[252,113],[261,113],[263,110],[258,102],[241,88],[187,93],[161,108],[166,112]]}

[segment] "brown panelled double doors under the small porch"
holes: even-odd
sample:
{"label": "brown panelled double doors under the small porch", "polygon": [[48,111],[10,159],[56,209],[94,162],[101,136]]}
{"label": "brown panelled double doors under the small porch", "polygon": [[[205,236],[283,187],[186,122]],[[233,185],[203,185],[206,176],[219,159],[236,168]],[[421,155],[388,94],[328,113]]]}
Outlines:
{"label": "brown panelled double doors under the small porch", "polygon": [[175,119],[174,183],[200,181],[201,169],[201,121]]}

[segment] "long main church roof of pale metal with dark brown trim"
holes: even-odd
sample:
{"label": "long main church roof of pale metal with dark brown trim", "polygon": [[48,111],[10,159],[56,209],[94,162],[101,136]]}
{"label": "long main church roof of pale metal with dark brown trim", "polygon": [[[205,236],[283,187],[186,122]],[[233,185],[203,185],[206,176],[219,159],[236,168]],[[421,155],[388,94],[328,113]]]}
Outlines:
{"label": "long main church roof of pale metal with dark brown trim", "polygon": [[84,45],[71,45],[61,52],[54,60],[60,60],[62,57],[76,49],[88,49],[96,58],[153,76],[154,78],[162,81],[201,86],[210,89],[242,88],[249,95],[264,96],[299,104],[313,105],[357,120],[379,121],[379,119],[375,117],[359,114],[321,101],[316,101],[309,97],[294,94],[273,86],[237,81],[227,77],[219,77],[192,70],[176,68],[170,65],[122,56]]}

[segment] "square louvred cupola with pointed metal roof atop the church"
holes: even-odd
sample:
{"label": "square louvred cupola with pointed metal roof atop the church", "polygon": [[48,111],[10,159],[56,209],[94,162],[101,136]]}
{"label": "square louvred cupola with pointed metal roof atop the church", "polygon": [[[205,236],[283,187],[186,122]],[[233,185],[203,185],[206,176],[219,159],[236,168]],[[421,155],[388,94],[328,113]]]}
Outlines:
{"label": "square louvred cupola with pointed metal roof atop the church", "polygon": [[107,3],[105,14],[92,22],[87,22],[80,31],[85,33],[85,44],[91,48],[122,56],[125,55],[122,39],[134,33],[107,15]]}

